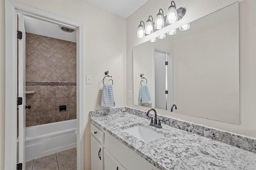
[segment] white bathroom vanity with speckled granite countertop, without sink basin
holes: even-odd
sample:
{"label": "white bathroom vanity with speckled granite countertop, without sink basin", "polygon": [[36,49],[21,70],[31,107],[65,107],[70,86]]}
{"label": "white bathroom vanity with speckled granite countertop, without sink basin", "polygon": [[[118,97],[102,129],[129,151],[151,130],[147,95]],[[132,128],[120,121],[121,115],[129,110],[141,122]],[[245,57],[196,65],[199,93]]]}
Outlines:
{"label": "white bathroom vanity with speckled granite countertop, without sink basin", "polygon": [[[255,169],[256,153],[209,139],[162,123],[149,126],[150,119],[122,109],[91,112],[92,170],[98,169]],[[152,117],[152,115],[151,115]],[[136,126],[161,134],[151,142],[125,130]]]}

